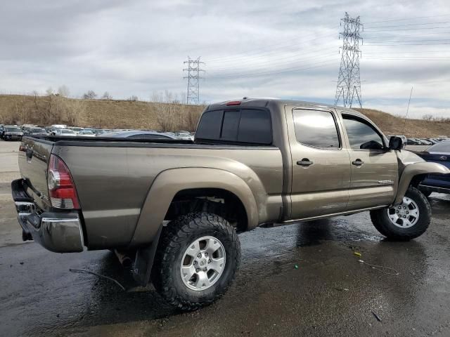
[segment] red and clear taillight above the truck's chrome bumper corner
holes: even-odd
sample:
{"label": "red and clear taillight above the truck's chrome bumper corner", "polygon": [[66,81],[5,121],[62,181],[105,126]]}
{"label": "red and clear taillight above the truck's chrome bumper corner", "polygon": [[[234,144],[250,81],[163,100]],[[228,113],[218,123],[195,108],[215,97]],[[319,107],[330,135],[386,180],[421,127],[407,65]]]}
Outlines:
{"label": "red and clear taillight above the truck's chrome bumper corner", "polygon": [[79,209],[77,190],[63,159],[51,154],[47,176],[51,206],[58,209]]}

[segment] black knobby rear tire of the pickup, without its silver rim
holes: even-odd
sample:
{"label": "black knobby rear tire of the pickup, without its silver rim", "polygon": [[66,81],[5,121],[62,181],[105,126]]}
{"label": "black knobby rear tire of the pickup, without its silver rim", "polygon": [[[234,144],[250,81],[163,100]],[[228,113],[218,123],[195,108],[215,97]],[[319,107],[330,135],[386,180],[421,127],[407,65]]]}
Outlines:
{"label": "black knobby rear tire of the pickup, without its silver rim", "polygon": [[[226,251],[224,271],[203,291],[189,289],[181,279],[181,259],[188,246],[200,237],[220,240]],[[190,213],[163,228],[151,277],[155,289],[168,303],[181,310],[196,310],[218,300],[234,279],[240,263],[238,234],[228,221],[213,213]]]}

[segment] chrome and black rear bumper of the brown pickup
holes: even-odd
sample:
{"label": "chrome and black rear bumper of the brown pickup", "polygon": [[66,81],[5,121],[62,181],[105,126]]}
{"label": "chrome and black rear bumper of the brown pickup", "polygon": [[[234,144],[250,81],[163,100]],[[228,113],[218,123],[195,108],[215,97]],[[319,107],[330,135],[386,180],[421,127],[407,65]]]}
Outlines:
{"label": "chrome and black rear bumper of the brown pickup", "polygon": [[40,212],[32,199],[27,199],[23,180],[14,180],[11,188],[24,240],[32,237],[45,249],[57,253],[83,251],[82,223],[77,212]]}

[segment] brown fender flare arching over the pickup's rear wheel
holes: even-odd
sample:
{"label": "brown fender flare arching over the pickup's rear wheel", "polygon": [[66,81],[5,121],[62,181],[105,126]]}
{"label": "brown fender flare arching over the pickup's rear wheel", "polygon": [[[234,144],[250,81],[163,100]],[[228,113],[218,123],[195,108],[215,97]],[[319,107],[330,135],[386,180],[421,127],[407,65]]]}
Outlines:
{"label": "brown fender flare arching over the pickup's rear wheel", "polygon": [[236,174],[221,169],[180,168],[162,171],[153,180],[141,209],[130,246],[149,244],[158,232],[175,194],[195,188],[219,188],[240,199],[248,218],[248,228],[258,225],[255,196],[245,181]]}

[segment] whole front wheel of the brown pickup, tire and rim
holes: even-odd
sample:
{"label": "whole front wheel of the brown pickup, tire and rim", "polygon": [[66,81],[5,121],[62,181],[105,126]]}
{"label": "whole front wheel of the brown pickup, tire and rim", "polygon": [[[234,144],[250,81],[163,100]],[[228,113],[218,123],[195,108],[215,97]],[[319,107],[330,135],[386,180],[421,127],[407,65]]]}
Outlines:
{"label": "whole front wheel of the brown pickup, tire and rim", "polygon": [[409,187],[401,204],[371,211],[375,228],[389,239],[410,240],[420,237],[431,221],[428,199],[415,187]]}

